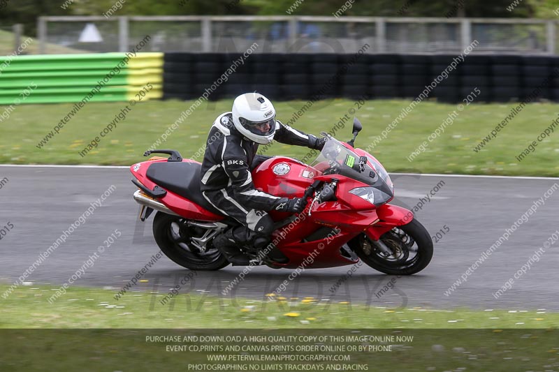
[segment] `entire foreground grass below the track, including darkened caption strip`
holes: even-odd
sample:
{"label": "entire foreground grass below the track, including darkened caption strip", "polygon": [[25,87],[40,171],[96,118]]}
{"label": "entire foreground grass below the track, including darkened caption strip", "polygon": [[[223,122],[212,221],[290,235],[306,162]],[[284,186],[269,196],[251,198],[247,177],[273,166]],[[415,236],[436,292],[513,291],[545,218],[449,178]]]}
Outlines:
{"label": "entire foreground grass below the track, including darkened caption strip", "polygon": [[[55,288],[23,286],[0,299],[2,371],[194,371],[189,364],[208,355],[283,355],[285,352],[227,351],[231,345],[393,345],[391,351],[298,350],[287,355],[349,355],[349,362],[235,362],[248,365],[322,365],[321,371],[349,370],[332,364],[368,365],[369,371],[529,371],[558,366],[559,313],[541,311],[436,311],[388,309],[319,299],[219,299],[165,293],[147,284],[115,301],[115,288],[71,287],[53,304]],[[145,285],[145,287],[141,287]],[[8,288],[0,285],[0,292]],[[147,336],[413,336],[400,342],[363,341],[148,341]],[[168,350],[173,345],[221,345],[220,350]],[[244,350],[246,351],[246,350]],[[229,362],[232,363],[232,362]],[[232,369],[231,369],[232,368]],[[227,369],[235,369],[231,367]],[[273,369],[257,369],[273,370]],[[363,369],[361,369],[363,371]]]}

